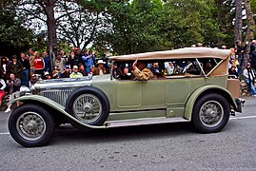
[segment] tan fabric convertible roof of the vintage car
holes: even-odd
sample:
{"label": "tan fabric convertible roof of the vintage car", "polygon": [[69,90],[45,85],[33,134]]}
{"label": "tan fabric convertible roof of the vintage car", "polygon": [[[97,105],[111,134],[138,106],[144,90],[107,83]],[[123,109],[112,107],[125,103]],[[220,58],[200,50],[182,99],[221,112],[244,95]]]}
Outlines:
{"label": "tan fabric convertible roof of the vintage car", "polygon": [[229,49],[210,47],[185,47],[166,51],[153,51],[146,53],[129,54],[110,57],[113,61],[135,61],[138,60],[165,60],[185,58],[219,58],[226,59],[231,53]]}

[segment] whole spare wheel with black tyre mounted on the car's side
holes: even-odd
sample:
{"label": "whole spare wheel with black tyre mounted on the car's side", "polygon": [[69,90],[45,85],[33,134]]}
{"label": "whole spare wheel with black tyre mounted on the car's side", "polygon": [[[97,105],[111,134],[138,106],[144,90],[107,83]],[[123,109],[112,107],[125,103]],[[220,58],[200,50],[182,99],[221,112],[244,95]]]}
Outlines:
{"label": "whole spare wheel with black tyre mounted on the car's side", "polygon": [[66,111],[70,115],[90,125],[105,123],[108,119],[109,108],[106,94],[99,88],[91,86],[73,91],[66,103]]}

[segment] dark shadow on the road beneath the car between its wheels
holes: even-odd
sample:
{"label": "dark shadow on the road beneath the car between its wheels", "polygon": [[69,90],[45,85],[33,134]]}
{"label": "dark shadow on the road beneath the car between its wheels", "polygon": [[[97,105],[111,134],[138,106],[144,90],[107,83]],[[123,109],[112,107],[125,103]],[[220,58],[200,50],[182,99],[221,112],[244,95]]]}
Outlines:
{"label": "dark shadow on the road beneath the car between its wheels", "polygon": [[166,123],[108,129],[89,129],[80,131],[69,124],[56,128],[52,144],[58,143],[98,143],[123,142],[159,139],[163,137],[194,134],[190,123]]}

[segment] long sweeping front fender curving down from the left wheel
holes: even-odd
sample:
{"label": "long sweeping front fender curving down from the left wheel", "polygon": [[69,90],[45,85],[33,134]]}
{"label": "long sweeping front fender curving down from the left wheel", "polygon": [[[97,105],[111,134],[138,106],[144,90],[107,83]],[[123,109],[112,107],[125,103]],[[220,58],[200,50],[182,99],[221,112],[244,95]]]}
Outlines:
{"label": "long sweeping front fender curving down from the left wheel", "polygon": [[[17,99],[14,99],[12,101],[10,101],[10,103],[8,104],[13,104],[15,102],[24,102],[24,103],[28,103],[29,101],[30,102],[39,102],[40,104],[45,104],[51,108],[54,108],[55,110],[59,111],[60,113],[62,113],[63,115],[65,115],[66,117],[68,117],[70,120],[76,122],[76,123],[79,123],[83,126],[86,126],[86,127],[89,127],[89,128],[107,128],[105,125],[102,125],[102,126],[94,126],[94,125],[89,125],[87,123],[82,123],[81,121],[77,120],[76,118],[74,118],[73,116],[69,115],[68,112],[65,111],[65,107],[61,104],[58,104],[52,100],[50,100],[49,98],[46,98],[44,96],[39,96],[39,95],[28,95],[28,96],[22,96],[22,97],[19,97]],[[46,108],[47,109],[47,108]]]}

